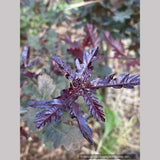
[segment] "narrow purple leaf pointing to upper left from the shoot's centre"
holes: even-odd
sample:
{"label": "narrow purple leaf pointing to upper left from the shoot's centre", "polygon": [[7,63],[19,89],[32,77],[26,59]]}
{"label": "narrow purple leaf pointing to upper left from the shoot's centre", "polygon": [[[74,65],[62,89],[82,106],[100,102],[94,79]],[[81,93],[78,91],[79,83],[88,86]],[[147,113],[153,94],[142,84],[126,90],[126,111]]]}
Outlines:
{"label": "narrow purple leaf pointing to upper left from the shoot's centre", "polygon": [[57,64],[58,67],[63,71],[66,72],[66,78],[69,80],[73,80],[75,77],[75,73],[72,71],[71,66],[67,66],[65,62],[63,62],[63,60],[61,58],[58,58],[56,56],[52,56],[51,57],[52,60],[54,60]]}

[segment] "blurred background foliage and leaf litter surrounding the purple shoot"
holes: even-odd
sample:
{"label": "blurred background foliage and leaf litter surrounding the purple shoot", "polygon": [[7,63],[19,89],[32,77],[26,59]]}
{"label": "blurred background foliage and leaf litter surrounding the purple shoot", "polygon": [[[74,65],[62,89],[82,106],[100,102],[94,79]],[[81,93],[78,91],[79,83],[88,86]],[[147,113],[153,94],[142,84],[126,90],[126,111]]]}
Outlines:
{"label": "blurred background foliage and leaf litter surrounding the purple shoot", "polygon": [[[139,74],[139,0],[21,0],[20,46],[30,46],[27,66],[21,61],[21,159],[78,159],[81,153],[133,153],[139,158],[139,87],[134,90],[101,89],[96,97],[104,106],[106,122],[88,116],[95,144],[51,149],[43,134],[34,127],[35,111],[27,106],[31,99],[51,99],[68,86],[63,74],[49,58],[58,54],[73,67],[75,56],[68,51],[76,41],[83,46],[86,24],[97,28],[100,55],[94,76],[104,78],[111,72]],[[125,53],[115,56],[106,42],[108,31],[121,39]],[[69,42],[70,41],[70,42]],[[88,49],[87,46],[83,48]],[[31,65],[30,65],[31,63]],[[105,69],[102,69],[105,68]],[[87,113],[84,102],[79,100]],[[74,150],[73,150],[74,149]],[[77,150],[75,150],[77,149]]]}

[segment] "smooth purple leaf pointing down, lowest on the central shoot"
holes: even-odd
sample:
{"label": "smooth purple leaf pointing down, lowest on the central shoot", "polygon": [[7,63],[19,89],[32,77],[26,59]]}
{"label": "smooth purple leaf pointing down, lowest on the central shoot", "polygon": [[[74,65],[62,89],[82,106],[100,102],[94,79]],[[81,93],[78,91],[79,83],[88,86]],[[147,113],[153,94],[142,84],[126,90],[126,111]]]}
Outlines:
{"label": "smooth purple leaf pointing down, lowest on the central shoot", "polygon": [[70,113],[71,118],[76,118],[78,121],[78,126],[80,128],[83,136],[88,140],[90,144],[93,144],[93,139],[89,136],[92,135],[92,130],[87,124],[87,119],[85,118],[84,112],[80,110],[78,103],[72,104],[72,111]]}

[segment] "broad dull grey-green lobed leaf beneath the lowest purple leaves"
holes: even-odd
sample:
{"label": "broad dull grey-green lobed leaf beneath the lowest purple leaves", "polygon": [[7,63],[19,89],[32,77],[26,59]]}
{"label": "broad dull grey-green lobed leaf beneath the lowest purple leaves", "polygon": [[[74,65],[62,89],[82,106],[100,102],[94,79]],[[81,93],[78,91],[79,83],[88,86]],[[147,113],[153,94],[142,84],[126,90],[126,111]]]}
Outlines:
{"label": "broad dull grey-green lobed leaf beneath the lowest purple leaves", "polygon": [[56,123],[52,122],[50,125],[46,125],[41,133],[41,138],[44,138],[44,143],[50,146],[50,142],[53,143],[54,148],[64,146],[67,150],[78,149],[81,147],[84,140],[78,127],[67,124],[71,120],[68,113],[63,113],[61,121]]}

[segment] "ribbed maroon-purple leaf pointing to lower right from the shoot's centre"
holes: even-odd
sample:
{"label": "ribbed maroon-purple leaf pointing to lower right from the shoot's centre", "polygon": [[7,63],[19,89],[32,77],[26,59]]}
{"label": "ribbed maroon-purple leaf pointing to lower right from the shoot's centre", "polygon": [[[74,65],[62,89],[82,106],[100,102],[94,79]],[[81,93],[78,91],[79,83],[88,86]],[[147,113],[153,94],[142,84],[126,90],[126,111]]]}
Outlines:
{"label": "ribbed maroon-purple leaf pointing to lower right from the shoot's centre", "polygon": [[82,92],[85,103],[89,105],[89,114],[93,115],[94,118],[97,118],[99,121],[105,121],[104,111],[102,110],[103,106],[99,104],[99,101],[96,97],[92,95],[91,92],[84,90]]}

